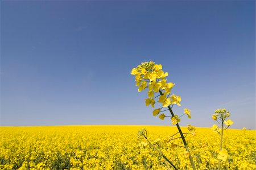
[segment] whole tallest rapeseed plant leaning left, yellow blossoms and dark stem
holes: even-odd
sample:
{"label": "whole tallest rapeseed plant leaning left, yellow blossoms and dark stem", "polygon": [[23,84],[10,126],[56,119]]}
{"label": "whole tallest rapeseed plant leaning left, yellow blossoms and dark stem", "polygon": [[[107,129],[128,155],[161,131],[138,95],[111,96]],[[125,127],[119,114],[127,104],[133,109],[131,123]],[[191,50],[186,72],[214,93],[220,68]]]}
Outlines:
{"label": "whole tallest rapeseed plant leaning left, yellow blossoms and dark stem", "polygon": [[[152,107],[155,107],[155,103],[159,102],[162,104],[162,107],[155,109],[152,114],[154,116],[159,115],[159,113],[162,113],[163,111],[170,111],[170,116],[165,115],[164,113],[159,115],[160,119],[164,119],[166,117],[170,118],[170,121],[172,125],[176,125],[178,129],[178,133],[180,134],[180,137],[183,141],[184,148],[185,148],[185,157],[189,157],[189,160],[191,162],[191,166],[193,170],[196,169],[195,163],[193,162],[191,152],[188,149],[188,144],[185,140],[184,133],[181,131],[179,122],[180,118],[183,115],[187,115],[188,118],[191,118],[190,110],[185,108],[184,114],[181,116],[178,116],[174,114],[172,111],[172,107],[174,105],[180,105],[181,97],[176,96],[175,94],[171,94],[171,89],[174,87],[174,83],[167,82],[166,77],[168,76],[167,72],[162,71],[162,65],[161,64],[155,64],[152,61],[141,63],[141,65],[138,65],[137,68],[133,68],[131,70],[131,74],[135,76],[136,86],[139,86],[138,92],[141,92],[142,90],[148,89],[148,98],[145,99],[146,106],[151,105]],[[166,107],[164,110],[163,108]],[[195,134],[195,128],[191,125],[188,125],[189,133],[185,134]]]}

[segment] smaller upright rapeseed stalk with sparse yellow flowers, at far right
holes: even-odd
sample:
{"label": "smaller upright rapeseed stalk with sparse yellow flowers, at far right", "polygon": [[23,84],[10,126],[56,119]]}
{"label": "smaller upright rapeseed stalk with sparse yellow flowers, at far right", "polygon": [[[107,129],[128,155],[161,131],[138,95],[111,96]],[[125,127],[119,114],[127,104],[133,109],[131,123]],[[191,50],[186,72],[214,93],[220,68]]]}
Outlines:
{"label": "smaller upright rapeseed stalk with sparse yellow flowers, at far right", "polygon": [[[212,119],[214,121],[216,121],[218,124],[221,125],[221,128],[218,127],[218,125],[213,125],[212,126],[212,130],[214,132],[217,132],[220,136],[220,151],[218,152],[218,169],[220,169],[221,167],[221,161],[226,161],[227,157],[228,157],[228,153],[226,150],[222,150],[222,142],[223,142],[223,132],[224,130],[226,130],[227,128],[229,128],[229,126],[231,126],[233,124],[233,122],[228,119],[226,121],[226,119],[230,116],[229,111],[227,111],[226,109],[218,109],[215,110],[215,114],[212,115]],[[224,126],[224,123],[226,126]]]}

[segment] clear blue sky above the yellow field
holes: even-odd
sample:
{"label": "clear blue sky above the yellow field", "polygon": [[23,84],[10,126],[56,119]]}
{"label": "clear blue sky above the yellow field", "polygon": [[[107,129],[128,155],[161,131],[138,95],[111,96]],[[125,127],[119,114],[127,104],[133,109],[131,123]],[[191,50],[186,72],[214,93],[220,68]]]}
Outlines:
{"label": "clear blue sky above the yellow field", "polygon": [[130,75],[150,60],[181,126],[255,128],[255,1],[1,1],[1,126],[170,125]]}

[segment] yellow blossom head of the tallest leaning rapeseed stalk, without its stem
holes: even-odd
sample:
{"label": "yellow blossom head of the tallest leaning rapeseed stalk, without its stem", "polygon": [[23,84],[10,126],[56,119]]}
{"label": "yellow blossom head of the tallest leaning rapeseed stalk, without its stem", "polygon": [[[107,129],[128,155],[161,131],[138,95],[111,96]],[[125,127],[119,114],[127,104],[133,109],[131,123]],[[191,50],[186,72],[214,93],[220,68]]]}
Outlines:
{"label": "yellow blossom head of the tallest leaning rapeseed stalk, without its stem", "polygon": [[[155,64],[152,61],[141,63],[137,68],[131,70],[131,74],[135,76],[136,86],[138,86],[138,92],[148,89],[148,98],[145,99],[146,106],[151,105],[155,107],[155,103],[159,102],[163,107],[168,107],[170,105],[181,106],[181,97],[171,94],[171,89],[174,87],[174,83],[167,82],[166,77],[167,72],[162,71],[161,64]],[[155,94],[158,93],[159,95]],[[157,101],[155,99],[158,98]],[[156,116],[160,113],[162,108],[155,109],[153,115]],[[185,114],[191,118],[190,110],[185,109]],[[166,115],[160,114],[159,118],[164,119]],[[172,124],[180,122],[178,117],[172,117]]]}

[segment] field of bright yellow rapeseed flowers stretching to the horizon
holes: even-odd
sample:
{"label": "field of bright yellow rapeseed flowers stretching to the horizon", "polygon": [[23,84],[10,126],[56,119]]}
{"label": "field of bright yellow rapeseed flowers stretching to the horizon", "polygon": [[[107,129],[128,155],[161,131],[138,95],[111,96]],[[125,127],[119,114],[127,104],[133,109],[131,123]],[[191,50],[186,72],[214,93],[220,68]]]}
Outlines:
{"label": "field of bright yellow rapeseed flowers stretching to the horizon", "polygon": [[[0,169],[167,169],[159,153],[137,139],[142,128],[177,169],[190,168],[181,140],[167,140],[177,132],[172,126],[0,128]],[[256,169],[255,136],[255,130],[227,130],[222,169]],[[186,137],[197,169],[217,169],[219,138],[210,128]]]}

